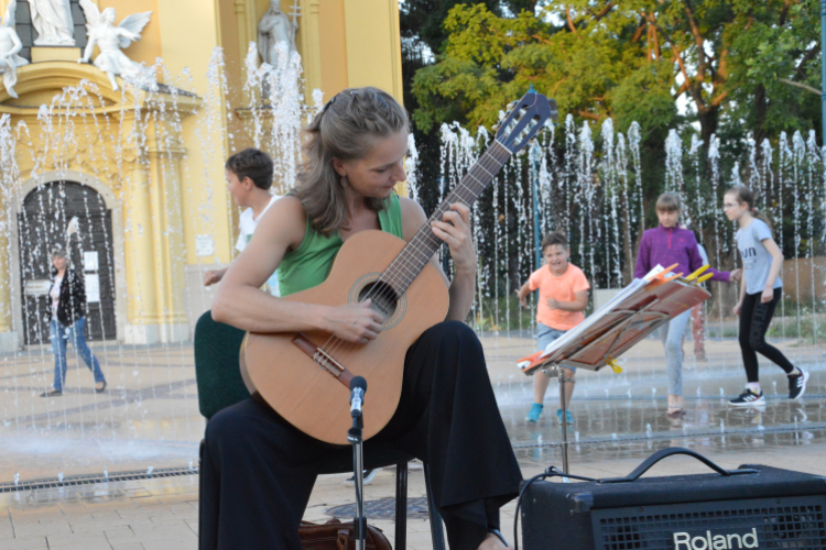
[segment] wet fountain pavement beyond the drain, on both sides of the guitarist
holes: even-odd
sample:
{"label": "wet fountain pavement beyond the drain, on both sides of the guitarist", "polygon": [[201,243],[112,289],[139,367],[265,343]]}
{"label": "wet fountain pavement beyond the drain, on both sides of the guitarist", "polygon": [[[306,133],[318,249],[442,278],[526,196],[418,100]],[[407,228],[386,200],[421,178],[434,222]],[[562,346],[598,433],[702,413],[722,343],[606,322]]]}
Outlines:
{"label": "wet fountain pavement beyond the drain, on both sides of the guitarist", "polygon": [[[559,460],[555,380],[540,421],[524,420],[533,400],[533,381],[515,362],[534,350],[535,341],[526,336],[485,336],[481,341],[497,400],[520,458]],[[760,410],[727,405],[745,384],[736,340],[706,342],[709,361],[696,361],[692,344],[684,344],[686,415],[680,419],[665,416],[667,386],[659,341],[645,340],[622,356],[621,374],[609,369],[596,373],[580,370],[570,405],[575,419],[569,429],[572,463],[617,453],[643,457],[670,444],[703,444],[725,451],[824,441],[824,348],[800,346],[794,340],[780,342],[793,362],[812,373],[807,393],[798,402],[789,402],[783,372],[762,361],[767,406]],[[99,345],[95,350],[107,372],[107,392],[94,393],[88,371],[75,365],[69,367],[66,393],[54,398],[39,397],[52,376],[52,358],[45,350],[0,358],[0,484],[11,482],[15,473],[20,480],[32,480],[58,473],[99,474],[104,469],[184,468],[189,461],[197,462],[204,420],[197,408],[192,348]]]}

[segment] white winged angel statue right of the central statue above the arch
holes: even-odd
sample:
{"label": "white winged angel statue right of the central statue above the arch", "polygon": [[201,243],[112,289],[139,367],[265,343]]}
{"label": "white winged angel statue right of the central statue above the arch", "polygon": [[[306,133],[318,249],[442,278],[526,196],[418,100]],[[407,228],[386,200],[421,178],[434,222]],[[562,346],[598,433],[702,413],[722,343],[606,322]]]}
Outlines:
{"label": "white winged angel statue right of the central statue above the arch", "polygon": [[118,89],[116,76],[131,79],[141,77],[144,73],[143,66],[127,57],[121,48],[129,47],[132,42],[141,38],[141,31],[149,23],[152,12],[133,13],[115,26],[115,8],[107,8],[100,12],[91,0],[80,0],[80,7],[86,14],[89,42],[86,44],[84,56],[77,59],[77,63],[88,63],[97,45],[100,54],[95,57],[94,64],[106,73],[113,90]]}

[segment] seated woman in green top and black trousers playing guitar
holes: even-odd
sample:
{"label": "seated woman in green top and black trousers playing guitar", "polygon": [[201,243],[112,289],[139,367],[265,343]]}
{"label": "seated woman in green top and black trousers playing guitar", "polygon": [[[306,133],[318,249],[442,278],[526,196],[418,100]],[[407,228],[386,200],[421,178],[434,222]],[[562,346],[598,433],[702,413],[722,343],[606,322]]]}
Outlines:
{"label": "seated woman in green top and black trousers playing guitar", "polygon": [[[213,318],[252,332],[323,330],[351,343],[374,340],[382,318],[369,302],[317,306],[260,287],[276,268],[282,296],[320,284],[341,243],[358,231],[413,238],[427,218],[419,204],[393,193],[405,180],[407,132],[404,108],[381,90],[334,97],[307,128],[307,162],[296,188],[261,218],[218,287]],[[453,550],[498,550],[504,548],[499,508],[517,496],[522,476],[481,345],[463,323],[476,272],[469,215],[455,204],[432,223],[455,265],[449,309],[409,348],[399,407],[373,439],[430,465]],[[435,257],[431,263],[444,277]],[[298,550],[317,463],[329,450],[257,400],[218,413],[206,430],[200,548]]]}

